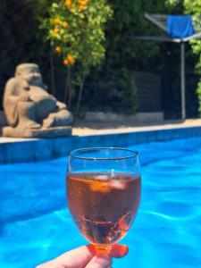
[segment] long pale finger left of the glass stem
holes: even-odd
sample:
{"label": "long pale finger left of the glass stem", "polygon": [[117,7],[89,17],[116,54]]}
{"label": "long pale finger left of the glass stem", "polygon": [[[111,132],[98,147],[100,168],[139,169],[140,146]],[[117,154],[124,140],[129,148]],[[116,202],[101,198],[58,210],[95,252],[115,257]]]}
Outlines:
{"label": "long pale finger left of the glass stem", "polygon": [[40,264],[36,268],[55,268],[55,267],[68,267],[68,268],[83,268],[88,264],[94,255],[88,250],[88,247],[78,247],[70,250],[63,255],[58,256],[53,261],[46,264]]}

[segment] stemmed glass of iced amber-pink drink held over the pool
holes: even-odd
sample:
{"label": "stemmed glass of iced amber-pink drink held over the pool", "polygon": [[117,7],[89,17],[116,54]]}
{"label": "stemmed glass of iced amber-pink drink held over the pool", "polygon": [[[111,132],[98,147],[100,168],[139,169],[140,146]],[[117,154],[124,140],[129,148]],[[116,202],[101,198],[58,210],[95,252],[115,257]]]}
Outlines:
{"label": "stemmed glass of iced amber-pink drink held over the pool", "polygon": [[110,250],[126,235],[138,211],[138,152],[115,147],[71,151],[66,187],[81,234],[97,249]]}

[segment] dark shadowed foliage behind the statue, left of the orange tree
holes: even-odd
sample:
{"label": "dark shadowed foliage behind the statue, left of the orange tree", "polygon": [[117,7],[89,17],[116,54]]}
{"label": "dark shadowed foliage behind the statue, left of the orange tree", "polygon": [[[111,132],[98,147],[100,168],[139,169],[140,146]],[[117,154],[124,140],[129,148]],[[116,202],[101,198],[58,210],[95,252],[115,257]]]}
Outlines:
{"label": "dark shadowed foliage behind the statue, left of the orange tree", "polygon": [[[49,80],[49,48],[41,40],[36,11],[38,4],[25,0],[0,1],[0,104],[4,84],[19,63],[35,62]],[[34,8],[35,7],[35,8]],[[39,14],[39,13],[38,13]]]}

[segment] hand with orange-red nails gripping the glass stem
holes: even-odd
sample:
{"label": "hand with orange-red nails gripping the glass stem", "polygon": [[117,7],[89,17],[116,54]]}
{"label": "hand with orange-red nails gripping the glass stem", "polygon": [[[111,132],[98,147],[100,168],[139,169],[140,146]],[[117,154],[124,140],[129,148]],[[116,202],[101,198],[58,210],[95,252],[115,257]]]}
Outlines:
{"label": "hand with orange-red nails gripping the glass stem", "polygon": [[93,245],[82,246],[36,268],[109,268],[113,257],[121,258],[128,252],[129,248],[124,245],[114,245],[107,254],[97,251]]}

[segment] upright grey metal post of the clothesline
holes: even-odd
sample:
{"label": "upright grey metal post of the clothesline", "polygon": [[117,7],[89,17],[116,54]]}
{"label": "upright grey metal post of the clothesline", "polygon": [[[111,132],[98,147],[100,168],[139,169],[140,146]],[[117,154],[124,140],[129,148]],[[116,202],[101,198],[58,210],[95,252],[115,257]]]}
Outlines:
{"label": "upright grey metal post of the clothesline", "polygon": [[185,43],[180,42],[180,99],[181,118],[186,119],[186,85],[185,85]]}

